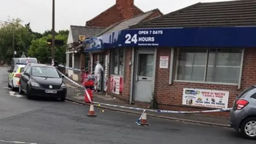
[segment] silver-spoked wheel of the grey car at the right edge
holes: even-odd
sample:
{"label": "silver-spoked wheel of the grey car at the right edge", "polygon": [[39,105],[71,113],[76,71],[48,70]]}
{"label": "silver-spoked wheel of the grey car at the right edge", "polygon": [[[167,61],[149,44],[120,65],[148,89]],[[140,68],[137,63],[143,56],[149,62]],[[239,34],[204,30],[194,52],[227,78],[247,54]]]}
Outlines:
{"label": "silver-spoked wheel of the grey car at the right edge", "polygon": [[256,117],[246,118],[240,128],[244,138],[256,139]]}

